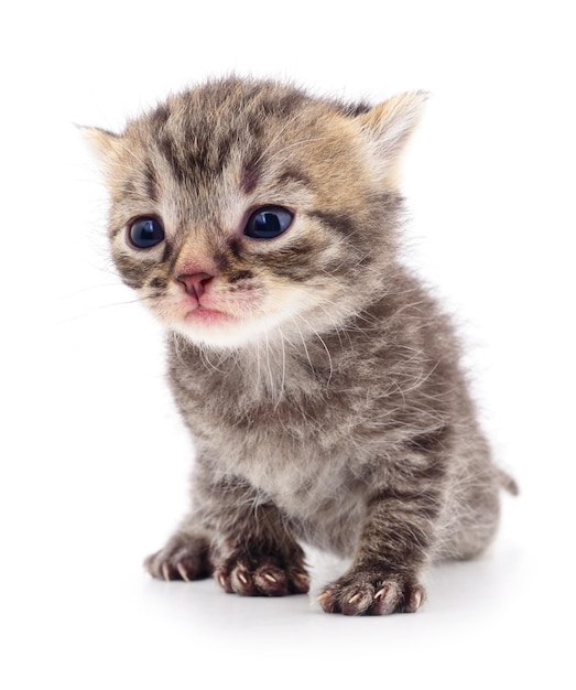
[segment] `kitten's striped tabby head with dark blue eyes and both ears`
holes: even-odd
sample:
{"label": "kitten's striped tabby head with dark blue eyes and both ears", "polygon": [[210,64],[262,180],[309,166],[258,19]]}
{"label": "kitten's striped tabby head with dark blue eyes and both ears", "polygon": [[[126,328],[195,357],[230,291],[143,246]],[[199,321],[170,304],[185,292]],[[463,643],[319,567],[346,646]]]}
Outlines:
{"label": "kitten's striped tabby head with dark blue eyes and both ears", "polygon": [[394,266],[395,168],[423,101],[349,107],[229,78],[170,97],[122,134],[86,129],[123,281],[198,344],[341,326]]}

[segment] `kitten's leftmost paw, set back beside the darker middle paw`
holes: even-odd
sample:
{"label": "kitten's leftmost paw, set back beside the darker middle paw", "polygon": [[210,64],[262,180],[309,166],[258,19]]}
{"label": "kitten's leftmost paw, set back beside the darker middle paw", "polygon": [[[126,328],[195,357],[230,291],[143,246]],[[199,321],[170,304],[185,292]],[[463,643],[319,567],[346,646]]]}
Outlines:
{"label": "kitten's leftmost paw, set back beside the darker middle paw", "polygon": [[200,580],[213,572],[208,543],[193,537],[173,537],[167,545],[144,561],[148,572],[159,580]]}

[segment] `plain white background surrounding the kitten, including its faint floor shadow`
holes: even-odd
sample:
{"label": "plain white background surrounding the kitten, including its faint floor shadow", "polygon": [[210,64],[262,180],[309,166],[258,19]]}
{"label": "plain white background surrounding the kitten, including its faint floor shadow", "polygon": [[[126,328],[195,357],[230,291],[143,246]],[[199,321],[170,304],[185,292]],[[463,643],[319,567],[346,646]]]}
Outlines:
{"label": "plain white background surrounding the kitten, including its faint floor shadow", "polygon": [[[4,3],[2,688],[574,687],[570,4]],[[416,615],[328,616],[142,571],[185,509],[192,446],[162,335],[107,259],[105,191],[73,123],[119,129],[232,71],[432,94],[404,165],[412,257],[463,324],[522,495],[483,559],[431,574]],[[315,587],[340,568],[313,564]]]}

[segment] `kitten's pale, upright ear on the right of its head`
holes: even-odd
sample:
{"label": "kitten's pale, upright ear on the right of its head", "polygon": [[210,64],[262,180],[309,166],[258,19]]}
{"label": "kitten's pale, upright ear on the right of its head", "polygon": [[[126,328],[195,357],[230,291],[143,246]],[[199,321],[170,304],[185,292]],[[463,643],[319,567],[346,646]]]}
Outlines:
{"label": "kitten's pale, upright ear on the right of its head", "polygon": [[425,91],[400,94],[358,117],[363,134],[368,136],[377,157],[389,172],[395,168],[414,131],[426,98]]}

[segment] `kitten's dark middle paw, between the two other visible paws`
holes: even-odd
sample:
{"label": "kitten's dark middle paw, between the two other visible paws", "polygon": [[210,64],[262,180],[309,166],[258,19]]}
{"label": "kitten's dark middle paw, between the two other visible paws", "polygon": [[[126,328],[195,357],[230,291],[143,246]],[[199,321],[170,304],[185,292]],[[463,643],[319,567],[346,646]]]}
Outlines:
{"label": "kitten's dark middle paw, between the two other visible paws", "polygon": [[214,578],[226,592],[246,596],[306,594],[309,590],[309,576],[303,563],[286,564],[271,556],[232,554],[221,561]]}

